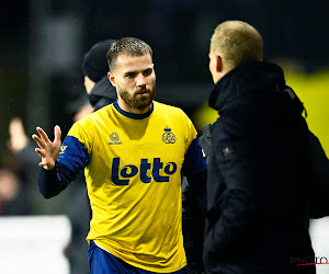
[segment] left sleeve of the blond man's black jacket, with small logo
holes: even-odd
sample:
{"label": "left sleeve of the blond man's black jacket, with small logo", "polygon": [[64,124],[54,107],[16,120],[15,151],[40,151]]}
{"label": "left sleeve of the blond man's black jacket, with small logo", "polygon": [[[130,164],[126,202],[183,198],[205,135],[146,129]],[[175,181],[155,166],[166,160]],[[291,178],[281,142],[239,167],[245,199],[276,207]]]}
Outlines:
{"label": "left sleeve of the blond man's black jacket, with small logo", "polygon": [[[205,260],[225,256],[252,235],[259,212],[269,203],[269,190],[262,186],[265,181],[263,163],[252,141],[243,137],[231,138],[232,135],[225,128],[213,134],[208,163],[216,169],[217,178],[209,178],[207,185]],[[218,184],[218,180],[223,180],[225,185],[219,191],[212,187],[212,184]]]}

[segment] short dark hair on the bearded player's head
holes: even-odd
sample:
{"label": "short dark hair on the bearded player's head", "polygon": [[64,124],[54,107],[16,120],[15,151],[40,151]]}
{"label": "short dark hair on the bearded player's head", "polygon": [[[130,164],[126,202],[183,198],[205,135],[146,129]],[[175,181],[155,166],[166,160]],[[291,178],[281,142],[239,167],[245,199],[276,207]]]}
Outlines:
{"label": "short dark hair on the bearded player's head", "polygon": [[144,56],[147,54],[152,58],[152,49],[144,41],[135,37],[121,38],[112,44],[106,54],[110,71],[115,69],[116,60],[120,55]]}

